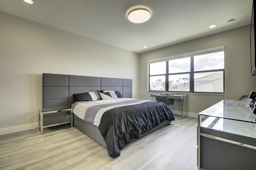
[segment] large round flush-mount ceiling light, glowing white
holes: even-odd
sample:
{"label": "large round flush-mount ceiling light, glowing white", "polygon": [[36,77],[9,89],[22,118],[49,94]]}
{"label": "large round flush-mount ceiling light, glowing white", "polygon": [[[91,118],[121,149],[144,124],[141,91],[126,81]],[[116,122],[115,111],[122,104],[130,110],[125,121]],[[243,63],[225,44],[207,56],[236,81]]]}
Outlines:
{"label": "large round flush-mount ceiling light, glowing white", "polygon": [[143,23],[149,20],[151,14],[145,8],[134,9],[129,12],[128,20],[133,23]]}

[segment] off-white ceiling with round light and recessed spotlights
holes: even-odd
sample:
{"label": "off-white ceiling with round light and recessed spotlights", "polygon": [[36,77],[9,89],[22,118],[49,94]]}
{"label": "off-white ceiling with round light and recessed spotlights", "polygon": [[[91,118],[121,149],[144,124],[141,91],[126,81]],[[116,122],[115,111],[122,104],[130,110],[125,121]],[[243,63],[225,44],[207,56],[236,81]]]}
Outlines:
{"label": "off-white ceiling with round light and recessed spotlights", "polygon": [[[33,1],[0,0],[0,11],[138,54],[250,25],[252,14],[252,0]],[[138,7],[151,12],[150,20],[128,21]]]}

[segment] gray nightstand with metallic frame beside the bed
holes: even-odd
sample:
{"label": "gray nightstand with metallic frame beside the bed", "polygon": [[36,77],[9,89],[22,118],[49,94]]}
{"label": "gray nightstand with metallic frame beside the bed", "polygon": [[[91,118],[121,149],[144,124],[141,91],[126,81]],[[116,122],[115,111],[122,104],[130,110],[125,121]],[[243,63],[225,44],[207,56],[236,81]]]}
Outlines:
{"label": "gray nightstand with metallic frame beside the bed", "polygon": [[41,134],[44,128],[70,123],[73,127],[73,109],[68,107],[56,107],[39,110],[39,129]]}

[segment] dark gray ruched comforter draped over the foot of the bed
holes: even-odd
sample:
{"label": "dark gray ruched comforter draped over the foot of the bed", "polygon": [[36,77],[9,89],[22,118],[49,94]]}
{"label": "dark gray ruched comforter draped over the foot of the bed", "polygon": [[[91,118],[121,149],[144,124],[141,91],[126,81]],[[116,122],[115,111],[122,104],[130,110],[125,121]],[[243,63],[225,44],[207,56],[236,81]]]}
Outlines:
{"label": "dark gray ruched comforter draped over the foot of the bed", "polygon": [[162,102],[149,101],[106,111],[102,115],[99,130],[109,156],[114,158],[120,156],[120,150],[132,139],[138,139],[165,120],[174,120],[170,108]]}

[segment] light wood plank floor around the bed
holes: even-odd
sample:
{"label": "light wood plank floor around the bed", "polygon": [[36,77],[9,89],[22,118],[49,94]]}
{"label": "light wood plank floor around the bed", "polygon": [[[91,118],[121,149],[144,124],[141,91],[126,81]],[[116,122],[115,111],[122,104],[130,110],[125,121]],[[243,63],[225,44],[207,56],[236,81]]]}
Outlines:
{"label": "light wood plank floor around the bed", "polygon": [[121,150],[118,158],[69,124],[0,136],[0,170],[196,170],[197,119],[175,115],[172,125]]}

